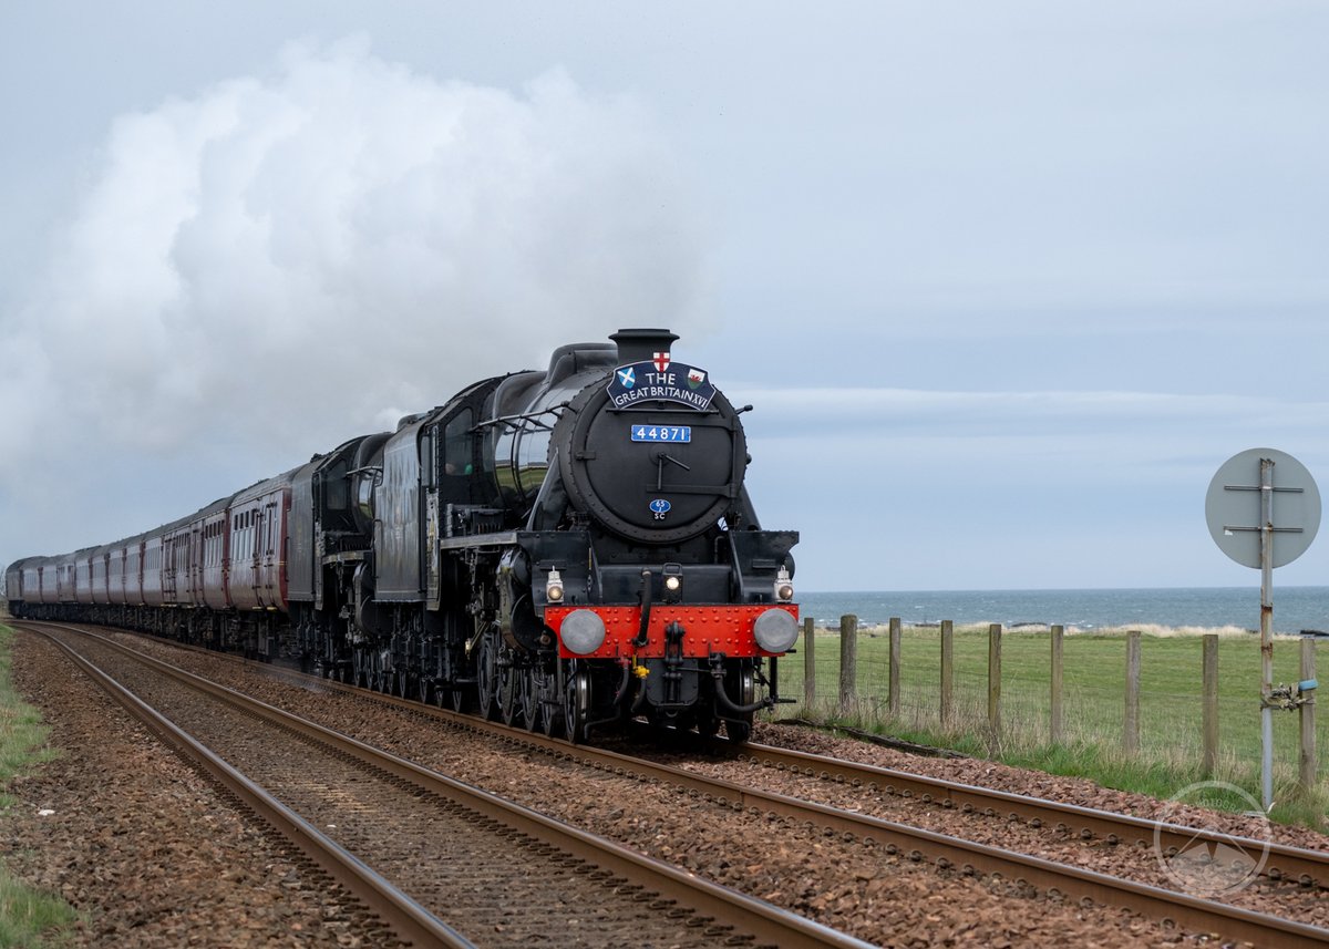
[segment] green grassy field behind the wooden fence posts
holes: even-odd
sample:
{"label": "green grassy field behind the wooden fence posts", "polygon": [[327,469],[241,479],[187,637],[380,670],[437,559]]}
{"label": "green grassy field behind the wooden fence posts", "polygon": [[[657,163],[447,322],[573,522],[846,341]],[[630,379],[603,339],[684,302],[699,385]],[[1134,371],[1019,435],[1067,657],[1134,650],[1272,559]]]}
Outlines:
{"label": "green grassy field behind the wooden fence posts", "polygon": [[[1201,639],[1199,635],[1142,637],[1140,747],[1122,751],[1126,708],[1126,631],[1066,635],[1063,639],[1065,738],[1049,740],[1050,634],[1002,634],[1001,738],[993,756],[1055,774],[1082,775],[1108,787],[1170,797],[1201,778]],[[941,634],[932,627],[901,633],[900,714],[888,712],[886,629],[859,634],[857,700],[840,714],[840,634],[819,630],[815,642],[816,700],[803,703],[804,642],[780,663],[780,692],[799,699],[779,716],[801,716],[989,755],[987,627],[954,633],[954,724],[941,726]],[[1297,682],[1301,643],[1275,642],[1275,685]],[[1320,678],[1329,675],[1329,641],[1317,642]],[[1321,690],[1322,691],[1322,690]],[[1213,778],[1260,787],[1260,643],[1248,634],[1219,641],[1219,767]],[[1329,702],[1321,703],[1329,706]],[[1329,800],[1329,707],[1316,720],[1320,767],[1317,792],[1297,800],[1298,712],[1275,712],[1275,816],[1324,825]]]}

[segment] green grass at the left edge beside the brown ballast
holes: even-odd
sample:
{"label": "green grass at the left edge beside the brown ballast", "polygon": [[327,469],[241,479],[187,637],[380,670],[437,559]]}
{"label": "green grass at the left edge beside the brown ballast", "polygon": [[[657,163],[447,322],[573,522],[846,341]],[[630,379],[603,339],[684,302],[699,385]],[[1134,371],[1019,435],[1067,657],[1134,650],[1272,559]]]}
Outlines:
{"label": "green grass at the left edge beside the brown ballast", "polygon": [[[0,809],[4,811],[15,805],[3,793],[9,782],[58,754],[47,744],[47,727],[37,710],[13,690],[12,643],[13,630],[0,625]],[[24,885],[0,863],[0,946],[64,945],[61,930],[76,918],[64,900]]]}

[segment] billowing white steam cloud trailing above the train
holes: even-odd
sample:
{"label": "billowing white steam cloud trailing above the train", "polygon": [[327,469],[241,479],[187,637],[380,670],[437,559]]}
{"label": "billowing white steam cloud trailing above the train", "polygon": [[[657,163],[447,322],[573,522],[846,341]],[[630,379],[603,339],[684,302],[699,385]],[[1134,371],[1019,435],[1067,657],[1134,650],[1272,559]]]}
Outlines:
{"label": "billowing white steam cloud trailing above the train", "polygon": [[74,459],[225,449],[275,473],[558,344],[686,330],[696,237],[650,117],[557,69],[513,93],[298,44],[122,116],[0,322],[8,540]]}

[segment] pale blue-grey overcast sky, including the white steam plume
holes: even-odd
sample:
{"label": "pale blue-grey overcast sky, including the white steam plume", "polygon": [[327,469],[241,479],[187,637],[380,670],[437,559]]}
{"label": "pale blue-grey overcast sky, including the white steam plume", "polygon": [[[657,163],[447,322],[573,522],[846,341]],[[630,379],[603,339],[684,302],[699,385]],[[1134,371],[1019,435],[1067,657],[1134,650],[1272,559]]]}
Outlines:
{"label": "pale blue-grey overcast sky, including the white steam plume", "polygon": [[1329,490],[1326,40],[1292,0],[0,0],[0,562],[662,326],[755,407],[801,589],[1257,589],[1205,494],[1251,448]]}

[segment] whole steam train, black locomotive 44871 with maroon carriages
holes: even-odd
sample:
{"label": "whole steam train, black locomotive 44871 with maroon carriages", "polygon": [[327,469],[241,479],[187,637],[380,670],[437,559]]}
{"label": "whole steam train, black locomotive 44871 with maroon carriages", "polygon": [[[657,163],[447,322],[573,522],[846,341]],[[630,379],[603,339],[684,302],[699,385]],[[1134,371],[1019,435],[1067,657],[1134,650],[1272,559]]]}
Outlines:
{"label": "whole steam train, black locomotive 44871 with maroon carriages", "polygon": [[146,630],[574,742],[747,740],[797,639],[739,416],[667,330],[557,350],[134,537],[5,572],[12,615]]}

